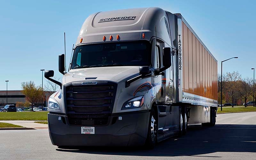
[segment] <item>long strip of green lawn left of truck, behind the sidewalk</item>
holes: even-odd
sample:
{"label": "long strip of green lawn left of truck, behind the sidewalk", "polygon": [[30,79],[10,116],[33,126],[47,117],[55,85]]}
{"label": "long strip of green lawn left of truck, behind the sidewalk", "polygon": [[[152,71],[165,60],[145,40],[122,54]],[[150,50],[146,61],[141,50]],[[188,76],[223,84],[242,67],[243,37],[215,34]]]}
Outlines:
{"label": "long strip of green lawn left of truck, behind the sidewalk", "polygon": [[47,121],[49,112],[0,112],[0,120],[34,120]]}

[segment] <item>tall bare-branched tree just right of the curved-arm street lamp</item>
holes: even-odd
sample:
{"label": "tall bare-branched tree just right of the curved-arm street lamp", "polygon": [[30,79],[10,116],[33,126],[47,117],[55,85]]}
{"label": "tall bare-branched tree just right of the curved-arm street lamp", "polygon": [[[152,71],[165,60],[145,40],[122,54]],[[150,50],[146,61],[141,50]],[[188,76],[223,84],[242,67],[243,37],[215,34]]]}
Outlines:
{"label": "tall bare-branched tree just right of the curved-arm street lamp", "polygon": [[238,80],[241,79],[241,75],[238,73],[238,71],[234,71],[232,73],[227,72],[227,80],[228,80],[228,85],[227,85],[227,92],[229,96],[232,97],[232,107],[234,104],[234,95],[235,92],[237,91],[238,88]]}

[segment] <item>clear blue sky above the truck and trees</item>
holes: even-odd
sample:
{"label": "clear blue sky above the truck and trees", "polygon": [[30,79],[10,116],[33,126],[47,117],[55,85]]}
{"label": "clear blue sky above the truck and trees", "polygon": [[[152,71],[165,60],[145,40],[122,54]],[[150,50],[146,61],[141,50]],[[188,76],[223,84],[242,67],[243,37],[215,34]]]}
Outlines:
{"label": "clear blue sky above the truck and trees", "polygon": [[[40,69],[58,72],[58,55],[67,63],[84,20],[92,13],[156,6],[181,13],[218,60],[223,73],[238,71],[253,77],[256,68],[256,1],[129,0],[129,1],[0,1],[0,90],[20,90],[21,82],[42,83]],[[67,65],[68,66],[68,65]],[[46,80],[44,78],[44,84]]]}

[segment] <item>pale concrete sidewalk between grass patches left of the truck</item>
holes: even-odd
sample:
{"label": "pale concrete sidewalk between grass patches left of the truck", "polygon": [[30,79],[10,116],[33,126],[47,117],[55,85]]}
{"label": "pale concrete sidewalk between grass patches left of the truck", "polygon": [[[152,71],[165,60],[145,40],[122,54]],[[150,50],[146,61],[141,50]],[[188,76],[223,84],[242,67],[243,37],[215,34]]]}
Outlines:
{"label": "pale concrete sidewalk between grass patches left of the truck", "polygon": [[0,122],[20,125],[26,128],[48,129],[48,124],[34,123],[36,121],[0,121]]}

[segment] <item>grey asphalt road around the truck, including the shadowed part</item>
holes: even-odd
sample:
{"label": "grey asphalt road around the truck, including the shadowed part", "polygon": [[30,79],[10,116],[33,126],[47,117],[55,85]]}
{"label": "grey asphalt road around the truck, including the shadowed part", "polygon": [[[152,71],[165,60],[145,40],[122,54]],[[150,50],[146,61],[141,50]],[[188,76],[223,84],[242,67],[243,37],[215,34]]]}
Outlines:
{"label": "grey asphalt road around the truck, including the shadowed part", "polygon": [[182,137],[153,149],[93,147],[62,149],[51,144],[48,130],[0,131],[1,160],[162,160],[256,159],[256,112],[217,116],[214,127],[190,125]]}

